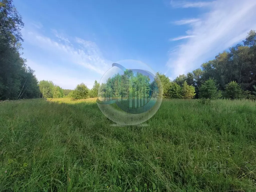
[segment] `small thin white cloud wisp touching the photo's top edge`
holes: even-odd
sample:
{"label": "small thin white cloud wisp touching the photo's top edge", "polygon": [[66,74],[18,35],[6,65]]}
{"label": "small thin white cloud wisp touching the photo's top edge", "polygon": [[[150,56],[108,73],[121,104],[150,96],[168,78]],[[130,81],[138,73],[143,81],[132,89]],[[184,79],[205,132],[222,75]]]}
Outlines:
{"label": "small thin white cloud wisp touching the photo's top edge", "polygon": [[200,8],[212,5],[213,1],[171,1],[171,5],[174,8]]}

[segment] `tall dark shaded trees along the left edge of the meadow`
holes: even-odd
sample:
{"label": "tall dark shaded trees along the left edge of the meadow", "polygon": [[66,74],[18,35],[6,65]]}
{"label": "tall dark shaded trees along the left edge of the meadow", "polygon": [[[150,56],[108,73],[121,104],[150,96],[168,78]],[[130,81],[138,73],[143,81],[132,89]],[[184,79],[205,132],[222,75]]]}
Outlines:
{"label": "tall dark shaded trees along the left edge of the meadow", "polygon": [[38,81],[34,70],[20,56],[23,41],[20,33],[22,17],[11,0],[0,1],[0,100],[36,98]]}

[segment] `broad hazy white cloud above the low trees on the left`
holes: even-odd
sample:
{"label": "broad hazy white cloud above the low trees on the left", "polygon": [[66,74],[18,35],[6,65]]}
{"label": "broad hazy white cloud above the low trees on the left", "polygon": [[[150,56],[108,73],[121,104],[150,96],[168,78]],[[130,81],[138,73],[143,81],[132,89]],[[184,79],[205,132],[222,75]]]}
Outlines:
{"label": "broad hazy white cloud above the low trees on the left", "polygon": [[[39,81],[52,80],[65,89],[73,89],[77,84],[84,82],[91,88],[94,80],[99,81],[111,67],[112,62],[103,57],[95,42],[78,37],[67,38],[59,34],[57,30],[51,30],[51,32],[55,38],[42,35],[37,30],[25,28],[22,31],[25,42],[37,49],[37,52],[33,50],[30,53],[25,50],[25,57],[28,59],[27,65],[36,71],[35,74]],[[33,58],[34,54],[40,57],[44,55],[44,61],[42,58],[41,60]],[[81,67],[85,70],[81,71]],[[80,70],[77,71],[77,68]],[[72,74],[69,72],[71,70],[73,70]]]}

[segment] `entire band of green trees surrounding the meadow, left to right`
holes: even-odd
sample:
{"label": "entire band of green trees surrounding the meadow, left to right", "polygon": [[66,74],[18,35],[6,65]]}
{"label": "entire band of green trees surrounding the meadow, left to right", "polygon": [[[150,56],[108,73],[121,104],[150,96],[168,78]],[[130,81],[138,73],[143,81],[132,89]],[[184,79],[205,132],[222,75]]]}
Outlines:
{"label": "entire band of green trees surrounding the meadow, left to right", "polygon": [[[38,82],[34,70],[22,58],[20,30],[24,26],[22,17],[12,5],[12,0],[0,1],[0,100],[28,98],[85,99],[97,97],[128,98],[149,97],[153,82],[142,74],[127,70],[123,75],[115,74],[105,84],[95,80],[90,90],[83,83],[74,90],[62,89],[52,81]],[[243,44],[230,47],[201,68],[182,74],[170,81],[157,72],[161,80],[164,98],[256,98],[256,33],[251,30]],[[132,95],[132,96],[131,96]]]}

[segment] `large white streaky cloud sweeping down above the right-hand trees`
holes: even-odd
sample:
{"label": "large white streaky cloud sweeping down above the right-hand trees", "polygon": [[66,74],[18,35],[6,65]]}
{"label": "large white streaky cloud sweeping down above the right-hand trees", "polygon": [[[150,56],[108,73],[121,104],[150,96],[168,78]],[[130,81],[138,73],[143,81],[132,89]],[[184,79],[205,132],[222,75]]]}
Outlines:
{"label": "large white streaky cloud sweeping down above the right-hand trees", "polygon": [[[189,4],[183,7],[188,6],[193,7]],[[251,29],[256,29],[255,9],[255,0],[218,0],[211,3],[208,12],[199,18],[200,22],[190,26],[187,33],[194,37],[170,56],[167,66],[172,77],[200,67],[203,62],[243,40]]]}

